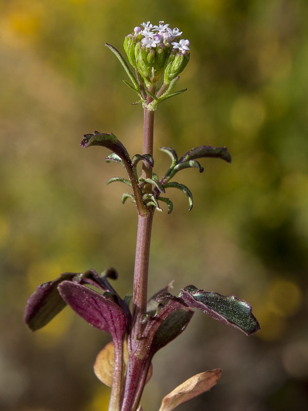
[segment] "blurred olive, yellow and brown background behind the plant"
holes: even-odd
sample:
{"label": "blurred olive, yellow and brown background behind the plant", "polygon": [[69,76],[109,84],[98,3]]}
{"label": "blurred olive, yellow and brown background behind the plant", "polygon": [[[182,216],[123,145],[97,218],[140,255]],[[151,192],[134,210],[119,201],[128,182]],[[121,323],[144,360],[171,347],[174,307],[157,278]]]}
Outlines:
{"label": "blurred olive, yellow and brown background behind the plant", "polygon": [[[149,293],[172,279],[236,294],[261,331],[246,337],[196,312],[153,361],[142,405],[213,368],[222,377],[179,411],[308,409],[308,4],[305,0],[0,1],[0,408],[104,411],[109,388],[92,372],[110,340],[66,308],[36,333],[23,324],[28,296],[65,271],[114,266],[131,291],[136,210],[123,175],[83,134],[113,132],[141,152],[142,109],[104,44],[120,51],[142,22],[179,27],[191,43],[178,89],[159,106],[155,172],[190,148],[225,145],[231,165],[203,159],[181,172],[194,194],[168,195],[156,213]],[[122,174],[121,174],[122,173]]]}

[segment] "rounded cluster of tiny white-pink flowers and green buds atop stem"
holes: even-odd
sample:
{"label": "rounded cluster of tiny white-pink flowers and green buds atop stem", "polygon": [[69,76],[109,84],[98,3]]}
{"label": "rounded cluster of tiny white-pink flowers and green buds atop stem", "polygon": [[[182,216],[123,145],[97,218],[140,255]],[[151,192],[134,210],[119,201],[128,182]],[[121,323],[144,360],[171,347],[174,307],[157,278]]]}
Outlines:
{"label": "rounded cluster of tiny white-pink flowers and green buds atop stem", "polygon": [[180,39],[182,31],[168,24],[150,22],[135,27],[125,37],[124,49],[129,63],[136,68],[147,88],[152,88],[164,74],[164,83],[178,77],[189,61],[189,40]]}

